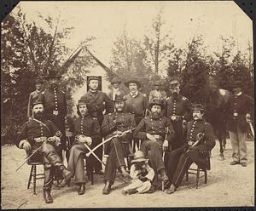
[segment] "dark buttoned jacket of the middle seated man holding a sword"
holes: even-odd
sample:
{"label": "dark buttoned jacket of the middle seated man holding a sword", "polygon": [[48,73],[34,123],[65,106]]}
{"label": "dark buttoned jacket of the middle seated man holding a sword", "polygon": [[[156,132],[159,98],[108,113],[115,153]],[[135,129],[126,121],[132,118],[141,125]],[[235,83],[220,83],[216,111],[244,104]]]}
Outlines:
{"label": "dark buttoned jacket of the middle seated man holding a sword", "polygon": [[[104,116],[102,122],[102,134],[107,136],[106,138],[113,135],[113,132],[119,130],[124,132],[125,130],[136,128],[134,115],[127,112],[113,112]],[[126,134],[123,137],[119,137],[119,140],[124,143],[131,141],[131,133]]]}

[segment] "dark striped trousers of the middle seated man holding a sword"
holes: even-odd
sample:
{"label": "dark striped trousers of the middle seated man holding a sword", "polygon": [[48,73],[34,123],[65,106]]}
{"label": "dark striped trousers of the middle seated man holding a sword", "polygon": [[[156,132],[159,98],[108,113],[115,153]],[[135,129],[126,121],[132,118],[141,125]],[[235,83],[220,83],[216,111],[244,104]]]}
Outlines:
{"label": "dark striped trousers of the middle seated man holding a sword", "polygon": [[109,148],[109,154],[108,154],[108,161],[105,168],[104,173],[104,180],[109,180],[113,184],[116,169],[120,168],[121,166],[125,166],[125,158],[124,158],[124,147],[120,141],[116,138],[111,140]]}

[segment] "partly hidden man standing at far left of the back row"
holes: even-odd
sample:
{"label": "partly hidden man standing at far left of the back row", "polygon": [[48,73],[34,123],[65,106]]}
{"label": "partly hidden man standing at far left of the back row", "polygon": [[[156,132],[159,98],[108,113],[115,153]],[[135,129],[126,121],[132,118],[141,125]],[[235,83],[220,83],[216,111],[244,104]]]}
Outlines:
{"label": "partly hidden man standing at far left of the back row", "polygon": [[27,118],[32,117],[32,106],[34,101],[38,100],[38,95],[43,92],[44,81],[41,77],[36,77],[35,86],[36,90],[29,94],[28,105],[27,105]]}

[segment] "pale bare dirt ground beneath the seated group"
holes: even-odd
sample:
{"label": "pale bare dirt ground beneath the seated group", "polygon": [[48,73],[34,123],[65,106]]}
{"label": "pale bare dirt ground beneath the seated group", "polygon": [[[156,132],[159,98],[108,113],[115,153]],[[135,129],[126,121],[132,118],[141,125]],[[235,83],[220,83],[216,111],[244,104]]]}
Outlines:
{"label": "pale bare dirt ground beneath the seated group", "polygon": [[[124,184],[116,180],[114,190],[102,195],[102,176],[96,176],[95,185],[86,185],[86,192],[79,196],[76,186],[58,190],[53,186],[54,203],[46,204],[43,198],[43,180],[37,181],[37,195],[32,188],[26,189],[30,167],[25,165],[18,172],[15,169],[26,157],[23,150],[15,145],[2,146],[2,208],[163,208],[163,207],[212,207],[212,206],[254,206],[254,142],[247,142],[247,167],[230,166],[231,145],[228,140],[224,151],[225,160],[218,160],[218,143],[212,150],[211,171],[208,183],[201,178],[199,188],[195,189],[195,175],[189,181],[183,180],[181,187],[172,195],[163,191],[153,194],[122,196]],[[43,168],[38,168],[42,171]]]}

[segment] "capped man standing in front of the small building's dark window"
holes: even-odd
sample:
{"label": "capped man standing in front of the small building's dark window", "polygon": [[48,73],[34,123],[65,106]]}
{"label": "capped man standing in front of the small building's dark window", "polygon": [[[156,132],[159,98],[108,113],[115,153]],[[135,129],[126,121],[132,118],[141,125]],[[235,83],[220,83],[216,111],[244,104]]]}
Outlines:
{"label": "capped man standing in front of the small building's dark window", "polygon": [[[103,121],[103,111],[106,110],[106,113],[113,112],[113,101],[108,98],[108,95],[100,90],[99,87],[99,78],[97,77],[89,77],[89,91],[84,94],[83,99],[86,101],[86,105],[88,110],[90,110],[90,115],[92,117],[96,117],[99,125],[102,125]],[[97,144],[100,144],[102,140],[98,140]],[[97,157],[102,160],[102,146],[99,147],[95,151]],[[102,172],[102,163],[96,161],[94,163],[95,173],[96,174],[103,174]]]}

